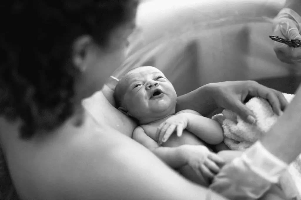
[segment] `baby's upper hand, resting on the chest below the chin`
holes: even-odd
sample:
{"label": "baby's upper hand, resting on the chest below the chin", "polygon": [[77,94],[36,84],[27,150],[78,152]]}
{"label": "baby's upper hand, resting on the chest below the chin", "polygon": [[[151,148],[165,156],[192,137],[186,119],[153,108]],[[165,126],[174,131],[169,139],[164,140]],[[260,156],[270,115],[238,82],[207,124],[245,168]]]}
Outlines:
{"label": "baby's upper hand, resting on the chest below the chin", "polygon": [[157,129],[156,136],[158,136],[158,144],[161,145],[166,142],[175,130],[177,136],[182,136],[183,130],[187,127],[188,118],[186,113],[181,113],[171,118],[168,118],[165,122],[160,124]]}

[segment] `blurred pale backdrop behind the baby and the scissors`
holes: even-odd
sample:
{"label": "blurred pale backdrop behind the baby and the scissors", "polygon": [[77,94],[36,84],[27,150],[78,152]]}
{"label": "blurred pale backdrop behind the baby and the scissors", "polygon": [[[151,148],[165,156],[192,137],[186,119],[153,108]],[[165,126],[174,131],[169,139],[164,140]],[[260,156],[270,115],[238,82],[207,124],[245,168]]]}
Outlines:
{"label": "blurred pale backdrop behind the baby and the scissors", "polygon": [[210,82],[256,80],[286,93],[301,65],[273,50],[272,19],[285,0],[144,0],[117,79],[133,67],[159,68],[178,95]]}

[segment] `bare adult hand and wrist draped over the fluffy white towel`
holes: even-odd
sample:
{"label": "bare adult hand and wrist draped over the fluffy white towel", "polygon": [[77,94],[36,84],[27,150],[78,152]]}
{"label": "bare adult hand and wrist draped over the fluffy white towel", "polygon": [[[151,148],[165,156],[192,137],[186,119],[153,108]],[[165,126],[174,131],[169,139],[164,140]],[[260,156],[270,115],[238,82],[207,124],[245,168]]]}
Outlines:
{"label": "bare adult hand and wrist draped over the fluffy white towel", "polygon": [[244,101],[250,96],[268,100],[278,115],[288,104],[280,91],[255,81],[229,81],[209,83],[178,97],[176,112],[191,109],[208,116],[215,109],[223,108],[237,113],[245,121],[254,123],[252,111],[244,105]]}

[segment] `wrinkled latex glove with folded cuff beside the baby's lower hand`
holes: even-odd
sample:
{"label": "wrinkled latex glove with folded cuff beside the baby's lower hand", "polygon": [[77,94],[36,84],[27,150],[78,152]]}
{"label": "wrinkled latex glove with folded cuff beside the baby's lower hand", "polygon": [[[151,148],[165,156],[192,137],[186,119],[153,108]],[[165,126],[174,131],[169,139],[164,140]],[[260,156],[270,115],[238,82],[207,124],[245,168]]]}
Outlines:
{"label": "wrinkled latex glove with folded cuff beside the baby's lower hand", "polygon": [[288,165],[256,142],[241,157],[225,165],[210,189],[229,199],[254,200],[267,192]]}

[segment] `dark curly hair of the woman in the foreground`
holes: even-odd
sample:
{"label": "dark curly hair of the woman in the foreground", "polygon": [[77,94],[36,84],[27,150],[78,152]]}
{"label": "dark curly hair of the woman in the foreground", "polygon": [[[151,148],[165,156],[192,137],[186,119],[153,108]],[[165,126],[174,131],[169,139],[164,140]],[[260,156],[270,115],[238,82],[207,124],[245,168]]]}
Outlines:
{"label": "dark curly hair of the woman in the foreground", "polygon": [[[101,46],[131,20],[131,0],[4,1],[0,5],[0,115],[20,118],[20,137],[59,127],[73,114],[73,41],[91,35]],[[97,37],[96,37],[97,36]]]}

